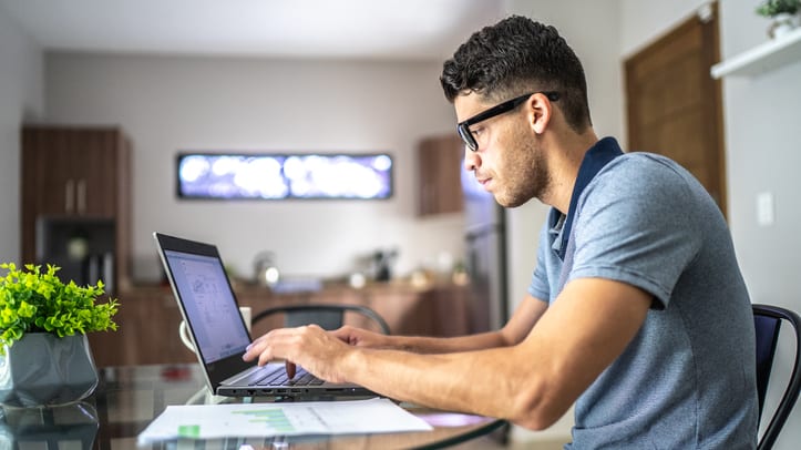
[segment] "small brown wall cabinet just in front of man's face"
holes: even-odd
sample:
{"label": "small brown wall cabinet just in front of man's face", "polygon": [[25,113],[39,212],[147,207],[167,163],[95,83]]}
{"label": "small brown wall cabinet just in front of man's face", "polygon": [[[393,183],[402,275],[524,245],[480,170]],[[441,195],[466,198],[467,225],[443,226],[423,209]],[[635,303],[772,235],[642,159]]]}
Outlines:
{"label": "small brown wall cabinet just in front of man's face", "polygon": [[418,146],[418,214],[458,213],[463,208],[462,157],[464,144],[454,134],[423,139]]}

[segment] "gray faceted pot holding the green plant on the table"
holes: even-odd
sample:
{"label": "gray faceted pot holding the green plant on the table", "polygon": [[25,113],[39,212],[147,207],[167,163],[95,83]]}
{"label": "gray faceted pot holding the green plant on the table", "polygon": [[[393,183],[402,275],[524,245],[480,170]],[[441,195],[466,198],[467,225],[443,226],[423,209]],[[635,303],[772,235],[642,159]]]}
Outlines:
{"label": "gray faceted pot holding the green plant on the table", "polygon": [[0,356],[0,403],[51,407],[89,397],[97,369],[85,335],[27,333]]}

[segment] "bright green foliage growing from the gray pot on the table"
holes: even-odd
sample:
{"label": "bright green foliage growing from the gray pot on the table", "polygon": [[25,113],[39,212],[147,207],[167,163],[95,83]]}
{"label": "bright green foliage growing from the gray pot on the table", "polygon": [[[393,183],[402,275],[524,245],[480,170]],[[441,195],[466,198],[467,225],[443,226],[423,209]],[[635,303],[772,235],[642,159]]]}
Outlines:
{"label": "bright green foliage growing from the gray pot on the table", "polygon": [[60,267],[50,264],[47,272],[32,264],[18,269],[13,263],[2,263],[0,268],[8,270],[0,278],[0,355],[25,333],[64,337],[116,330],[112,317],[119,301],[95,304],[105,294],[103,282],[85,287],[64,284],[55,275]]}

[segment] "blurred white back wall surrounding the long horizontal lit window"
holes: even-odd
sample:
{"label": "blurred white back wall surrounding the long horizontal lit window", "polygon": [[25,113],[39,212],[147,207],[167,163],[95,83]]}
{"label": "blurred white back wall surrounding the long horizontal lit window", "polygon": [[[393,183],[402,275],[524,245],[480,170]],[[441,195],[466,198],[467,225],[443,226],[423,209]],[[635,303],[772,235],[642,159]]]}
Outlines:
{"label": "blurred white back wall surrounding the long horizontal lit window", "polygon": [[[251,275],[275,252],[289,276],[337,276],[359,255],[398,247],[397,273],[463,253],[461,215],[415,215],[415,144],[453,132],[439,85],[441,63],[327,62],[53,53],[47,57],[48,120],[116,123],[133,140],[133,252],[154,262],[151,233],[212,241]],[[181,150],[389,151],[390,201],[178,201]]]}

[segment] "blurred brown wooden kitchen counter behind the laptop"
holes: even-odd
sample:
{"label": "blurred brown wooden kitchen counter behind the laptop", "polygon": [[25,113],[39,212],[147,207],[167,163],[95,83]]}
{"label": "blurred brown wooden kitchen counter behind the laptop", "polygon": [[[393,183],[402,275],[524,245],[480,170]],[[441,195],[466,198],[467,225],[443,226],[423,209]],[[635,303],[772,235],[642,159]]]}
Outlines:
{"label": "blurred brown wooden kitchen counter behind the laptop", "polygon": [[[405,282],[374,283],[356,289],[346,284],[324,284],[318,290],[274,293],[245,283],[234,283],[240,306],[259,310],[286,304],[364,305],[387,320],[396,335],[460,336],[472,327],[472,299],[468,286],[455,284],[415,285]],[[137,286],[119,294],[116,331],[89,334],[99,367],[143,364],[193,362],[195,355],[178,338],[182,320],[168,286]],[[346,324],[366,326],[346,317]],[[279,318],[254,325],[253,336],[280,327]]]}

